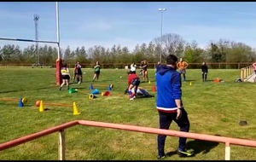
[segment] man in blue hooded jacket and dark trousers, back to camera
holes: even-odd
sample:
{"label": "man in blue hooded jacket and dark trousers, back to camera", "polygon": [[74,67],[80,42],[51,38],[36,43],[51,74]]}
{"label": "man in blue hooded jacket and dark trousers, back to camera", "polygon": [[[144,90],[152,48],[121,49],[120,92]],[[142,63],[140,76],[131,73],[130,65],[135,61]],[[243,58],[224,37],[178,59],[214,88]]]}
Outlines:
{"label": "man in blue hooded jacket and dark trousers, back to camera", "polygon": [[[160,129],[169,130],[172,120],[174,120],[180,131],[189,132],[189,118],[183,107],[181,76],[177,72],[176,55],[166,57],[166,65],[162,65],[156,72],[155,79],[157,86],[156,108],[159,113]],[[186,141],[187,138],[179,138],[177,154],[180,157],[193,155],[185,149]],[[165,142],[166,135],[157,136],[158,159],[166,158]]]}

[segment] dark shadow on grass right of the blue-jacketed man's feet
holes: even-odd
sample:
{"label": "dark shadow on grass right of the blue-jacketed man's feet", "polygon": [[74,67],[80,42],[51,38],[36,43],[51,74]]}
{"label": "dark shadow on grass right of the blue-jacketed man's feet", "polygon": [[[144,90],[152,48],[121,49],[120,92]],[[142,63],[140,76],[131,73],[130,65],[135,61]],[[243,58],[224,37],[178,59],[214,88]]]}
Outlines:
{"label": "dark shadow on grass right of the blue-jacketed man's feet", "polygon": [[194,150],[194,155],[198,153],[209,153],[212,148],[218,146],[218,142],[207,142],[201,140],[189,141],[186,144],[186,147]]}

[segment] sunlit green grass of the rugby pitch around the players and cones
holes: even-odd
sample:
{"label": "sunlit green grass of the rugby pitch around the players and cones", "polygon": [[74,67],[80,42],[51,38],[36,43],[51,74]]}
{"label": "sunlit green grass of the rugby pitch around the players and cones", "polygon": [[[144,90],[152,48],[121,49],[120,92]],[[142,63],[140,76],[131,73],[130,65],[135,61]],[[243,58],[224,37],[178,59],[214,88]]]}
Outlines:
{"label": "sunlit green grass of the rugby pitch around the players and cones", "polygon": [[[90,92],[89,85],[93,75],[91,69],[84,69],[84,83],[72,84],[83,92]],[[155,98],[129,101],[124,95],[126,87],[125,70],[102,69],[100,80],[94,88],[106,91],[113,84],[111,96],[99,96],[88,100],[88,95],[69,94],[66,87],[59,91],[55,85],[55,69],[40,68],[0,68],[0,98],[9,97],[29,99],[26,107],[18,107],[16,101],[0,101],[0,143],[20,136],[26,136],[52,126],[75,119],[93,120],[118,124],[133,124],[158,128],[158,113]],[[208,135],[229,136],[256,140],[256,120],[254,93],[256,84],[236,83],[239,70],[209,70],[209,79],[223,78],[224,83],[201,82],[200,70],[188,70],[183,82],[183,103],[189,113],[190,132]],[[120,78],[122,76],[123,78]],[[154,70],[148,74],[151,84],[143,83],[152,95]],[[105,85],[105,86],[104,86]],[[67,103],[76,102],[82,112],[73,115],[72,107],[52,107],[44,113],[38,112],[35,102]],[[240,126],[241,119],[248,125]],[[178,130],[175,123],[172,130]],[[110,130],[87,126],[67,129],[67,159],[156,159],[156,135]],[[177,148],[177,137],[166,138],[166,152]],[[188,139],[188,148],[195,150],[195,157],[183,158],[217,160],[224,159],[224,144],[201,142]],[[58,159],[58,133],[41,137],[32,142],[21,144],[0,152],[0,159]],[[177,154],[167,160],[180,159]],[[256,149],[231,146],[231,159],[256,159]]]}

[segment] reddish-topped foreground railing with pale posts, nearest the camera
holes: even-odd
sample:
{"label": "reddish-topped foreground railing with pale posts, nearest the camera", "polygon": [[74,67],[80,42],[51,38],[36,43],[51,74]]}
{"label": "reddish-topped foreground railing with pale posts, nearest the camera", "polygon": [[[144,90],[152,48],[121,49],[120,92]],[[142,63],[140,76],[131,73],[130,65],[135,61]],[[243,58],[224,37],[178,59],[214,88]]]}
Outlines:
{"label": "reddish-topped foreground railing with pale posts, nearest the camera", "polygon": [[116,130],[130,130],[135,132],[143,132],[143,133],[150,133],[150,134],[161,134],[166,136],[177,136],[177,137],[187,137],[190,139],[197,139],[202,141],[209,141],[209,142],[222,142],[225,143],[225,160],[230,160],[230,145],[240,145],[245,147],[253,147],[256,148],[256,141],[253,140],[243,140],[238,138],[230,138],[224,136],[211,136],[211,135],[203,135],[197,133],[190,133],[190,132],[181,132],[176,130],[161,130],[158,128],[150,128],[150,127],[143,127],[143,126],[135,126],[129,124],[113,124],[113,123],[105,123],[105,122],[96,122],[96,121],[88,121],[88,120],[74,120],[68,122],[66,124],[61,124],[47,130],[39,131],[38,133],[34,133],[32,135],[23,136],[18,139],[15,139],[10,142],[5,142],[0,144],[0,151],[12,148],[17,145],[20,145],[25,142],[30,142],[32,140],[38,139],[42,136],[47,136],[54,132],[59,131],[59,159],[65,160],[65,129],[69,127],[73,127],[74,125],[81,124],[86,126],[94,126],[94,127],[102,127],[108,129],[116,129]]}

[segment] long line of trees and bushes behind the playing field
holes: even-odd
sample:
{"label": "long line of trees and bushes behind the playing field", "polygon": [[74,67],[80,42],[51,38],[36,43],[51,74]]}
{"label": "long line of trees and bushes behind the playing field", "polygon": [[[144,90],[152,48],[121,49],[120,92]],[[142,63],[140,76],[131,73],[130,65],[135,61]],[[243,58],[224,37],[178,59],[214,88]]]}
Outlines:
{"label": "long line of trees and bushes behind the playing field", "polygon": [[[80,61],[82,64],[91,64],[100,61],[104,64],[140,62],[147,60],[149,63],[160,61],[160,42],[162,42],[162,61],[166,55],[177,55],[189,63],[207,62],[252,62],[256,59],[256,51],[246,43],[219,39],[209,41],[206,49],[198,46],[196,41],[187,42],[176,33],[167,33],[162,40],[154,38],[149,43],[137,44],[132,51],[120,44],[112,48],[95,45],[85,49],[84,46],[71,50],[69,46],[61,49],[61,58],[67,63]],[[6,44],[0,47],[0,64],[34,64],[37,63],[37,54],[40,64],[55,64],[57,48],[50,45],[30,45],[21,49],[18,45]]]}

